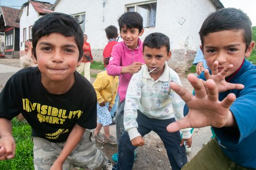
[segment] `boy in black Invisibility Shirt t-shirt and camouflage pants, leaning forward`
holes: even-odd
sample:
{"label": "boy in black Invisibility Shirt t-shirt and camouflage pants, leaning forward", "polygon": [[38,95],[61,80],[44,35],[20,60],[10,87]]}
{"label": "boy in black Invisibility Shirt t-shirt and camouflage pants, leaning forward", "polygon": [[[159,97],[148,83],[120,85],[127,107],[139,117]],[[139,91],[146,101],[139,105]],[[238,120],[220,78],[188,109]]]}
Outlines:
{"label": "boy in black Invisibility Shirt t-shirt and camouflage pants, leaning forward", "polygon": [[34,23],[38,67],[18,71],[0,93],[0,160],[15,156],[11,119],[22,113],[32,127],[35,170],[112,169],[86,130],[97,125],[97,98],[93,86],[75,71],[83,56],[79,24],[61,13]]}

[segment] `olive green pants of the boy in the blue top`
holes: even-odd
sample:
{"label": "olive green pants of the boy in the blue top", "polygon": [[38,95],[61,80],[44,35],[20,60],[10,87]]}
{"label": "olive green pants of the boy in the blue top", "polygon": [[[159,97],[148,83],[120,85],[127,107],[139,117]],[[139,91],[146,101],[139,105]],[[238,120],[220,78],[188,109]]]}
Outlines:
{"label": "olive green pants of the boy in the blue top", "polygon": [[182,170],[255,170],[231,161],[221,150],[216,139],[203,147]]}

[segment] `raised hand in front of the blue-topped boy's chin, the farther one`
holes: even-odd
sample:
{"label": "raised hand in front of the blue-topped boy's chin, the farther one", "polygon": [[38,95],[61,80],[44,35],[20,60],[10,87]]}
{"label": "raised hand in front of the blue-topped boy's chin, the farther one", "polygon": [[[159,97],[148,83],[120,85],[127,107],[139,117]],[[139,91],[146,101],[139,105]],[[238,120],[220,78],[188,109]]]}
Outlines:
{"label": "raised hand in front of the blue-topped boy's chin, the farther one", "polygon": [[206,80],[208,79],[213,79],[214,82],[216,83],[219,92],[224,92],[227,90],[231,90],[231,89],[243,89],[244,85],[242,84],[232,84],[232,83],[228,83],[225,80],[225,77],[227,76],[227,73],[230,69],[233,68],[233,65],[230,64],[226,67],[224,67],[220,72],[218,71],[218,66],[219,66],[219,62],[215,61],[212,65],[211,71],[212,74],[210,75],[209,70],[205,69],[205,78]]}

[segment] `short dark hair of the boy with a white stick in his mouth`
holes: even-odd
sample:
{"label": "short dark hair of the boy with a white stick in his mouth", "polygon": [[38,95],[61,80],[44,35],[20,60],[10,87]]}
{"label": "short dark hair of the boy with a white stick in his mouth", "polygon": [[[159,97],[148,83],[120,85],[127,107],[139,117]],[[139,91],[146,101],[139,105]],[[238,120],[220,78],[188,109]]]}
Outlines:
{"label": "short dark hair of the boy with a white stick in his mouth", "polygon": [[167,35],[162,33],[152,33],[146,36],[143,42],[143,52],[144,47],[148,47],[151,49],[160,49],[162,47],[166,47],[167,53],[170,52],[170,39]]}

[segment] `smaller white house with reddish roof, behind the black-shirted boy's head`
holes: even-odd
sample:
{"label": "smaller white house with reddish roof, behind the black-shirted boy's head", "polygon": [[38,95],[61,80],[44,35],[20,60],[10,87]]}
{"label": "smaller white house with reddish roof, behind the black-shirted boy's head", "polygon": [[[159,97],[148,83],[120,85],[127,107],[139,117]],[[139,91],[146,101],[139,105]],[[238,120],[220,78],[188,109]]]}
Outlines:
{"label": "smaller white house with reddish roof, behind the black-shirted boy's head", "polygon": [[19,55],[24,55],[25,41],[32,39],[32,26],[34,22],[43,15],[53,12],[52,4],[36,0],[28,0],[19,10],[17,22],[19,22]]}

